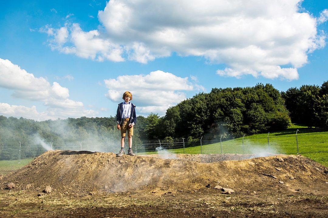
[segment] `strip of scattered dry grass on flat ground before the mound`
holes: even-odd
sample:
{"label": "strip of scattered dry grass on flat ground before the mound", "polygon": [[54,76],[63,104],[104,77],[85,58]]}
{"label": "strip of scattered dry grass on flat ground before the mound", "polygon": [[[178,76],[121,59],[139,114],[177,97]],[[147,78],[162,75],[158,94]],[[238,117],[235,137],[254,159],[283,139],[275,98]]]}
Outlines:
{"label": "strip of scattered dry grass on flat ground before the mound", "polygon": [[[263,197],[263,196],[261,196]],[[119,194],[90,194],[84,196],[52,195],[37,196],[36,192],[25,190],[0,192],[0,211],[7,211],[8,215],[33,214],[47,211],[60,214],[62,211],[76,211],[78,209],[94,208],[134,208],[146,213],[179,211],[227,211],[246,213],[279,213],[281,207],[291,207],[300,204],[319,204],[328,208],[328,196],[314,194],[283,195],[273,194],[261,198],[256,195],[185,195],[185,194],[152,194],[147,193],[119,193]],[[145,211],[146,209],[146,211]]]}

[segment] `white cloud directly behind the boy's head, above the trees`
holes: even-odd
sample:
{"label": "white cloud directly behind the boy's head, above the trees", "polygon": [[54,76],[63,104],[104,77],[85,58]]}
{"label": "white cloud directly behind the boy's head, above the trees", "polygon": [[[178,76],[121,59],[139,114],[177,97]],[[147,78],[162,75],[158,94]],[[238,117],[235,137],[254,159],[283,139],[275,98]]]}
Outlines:
{"label": "white cloud directly behind the boy's head, above the trees", "polygon": [[107,98],[119,103],[123,101],[123,93],[130,91],[133,94],[132,102],[139,106],[138,111],[142,115],[151,112],[164,115],[166,109],[186,99],[186,91],[203,89],[192,84],[188,77],[181,78],[159,70],[148,75],[123,75],[104,81],[109,89],[106,93]]}

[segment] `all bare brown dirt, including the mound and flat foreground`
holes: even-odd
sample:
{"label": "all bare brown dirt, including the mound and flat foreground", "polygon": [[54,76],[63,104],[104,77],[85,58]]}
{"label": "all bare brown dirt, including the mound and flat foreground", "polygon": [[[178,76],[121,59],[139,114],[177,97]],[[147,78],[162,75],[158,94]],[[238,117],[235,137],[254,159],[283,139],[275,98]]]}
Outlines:
{"label": "all bare brown dirt, including the mound and flat foreground", "polygon": [[48,151],[0,179],[0,217],[328,217],[328,169],[301,155],[165,158]]}

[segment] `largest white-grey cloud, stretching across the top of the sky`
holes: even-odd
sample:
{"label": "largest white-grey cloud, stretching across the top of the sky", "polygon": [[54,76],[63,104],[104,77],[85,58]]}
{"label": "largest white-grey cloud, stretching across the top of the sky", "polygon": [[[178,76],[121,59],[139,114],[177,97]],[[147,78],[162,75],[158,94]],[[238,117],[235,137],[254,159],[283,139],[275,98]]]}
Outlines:
{"label": "largest white-grey cloud, stretching across the top of the sky", "polygon": [[[307,56],[325,46],[327,21],[299,8],[302,0],[111,0],[98,19],[105,31],[78,24],[46,26],[54,49],[102,61],[147,63],[173,52],[223,63],[221,76],[293,80]],[[286,67],[288,66],[288,67]]]}

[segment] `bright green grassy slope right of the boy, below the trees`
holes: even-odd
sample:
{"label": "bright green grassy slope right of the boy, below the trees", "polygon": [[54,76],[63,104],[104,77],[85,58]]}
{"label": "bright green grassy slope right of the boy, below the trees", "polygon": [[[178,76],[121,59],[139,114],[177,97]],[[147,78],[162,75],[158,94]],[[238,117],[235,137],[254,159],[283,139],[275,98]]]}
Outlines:
{"label": "bright green grassy slope right of the boy, below the trees", "polygon": [[[216,141],[202,140],[202,146],[170,149],[169,152],[175,154],[257,154],[259,156],[267,156],[269,153],[301,154],[328,166],[328,131],[314,132],[305,126],[294,124],[282,132],[256,134],[221,142],[219,139]],[[157,154],[157,152],[142,154]]]}

